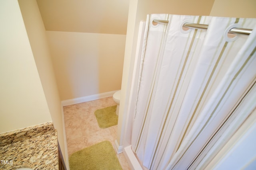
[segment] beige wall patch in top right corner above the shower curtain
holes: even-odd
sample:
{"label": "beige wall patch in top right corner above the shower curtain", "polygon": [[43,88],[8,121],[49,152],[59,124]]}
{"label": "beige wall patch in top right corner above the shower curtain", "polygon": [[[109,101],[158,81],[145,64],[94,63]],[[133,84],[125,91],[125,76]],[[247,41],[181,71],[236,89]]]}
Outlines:
{"label": "beige wall patch in top right corner above the shower curtain", "polygon": [[215,0],[210,16],[256,18],[256,0]]}

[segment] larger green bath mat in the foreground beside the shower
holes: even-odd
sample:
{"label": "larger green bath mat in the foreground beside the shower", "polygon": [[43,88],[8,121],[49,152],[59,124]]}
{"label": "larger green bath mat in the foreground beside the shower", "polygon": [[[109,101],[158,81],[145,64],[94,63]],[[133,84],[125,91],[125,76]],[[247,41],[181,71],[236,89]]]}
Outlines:
{"label": "larger green bath mat in the foreground beside the shower", "polygon": [[110,141],[103,141],[70,155],[70,170],[122,170]]}

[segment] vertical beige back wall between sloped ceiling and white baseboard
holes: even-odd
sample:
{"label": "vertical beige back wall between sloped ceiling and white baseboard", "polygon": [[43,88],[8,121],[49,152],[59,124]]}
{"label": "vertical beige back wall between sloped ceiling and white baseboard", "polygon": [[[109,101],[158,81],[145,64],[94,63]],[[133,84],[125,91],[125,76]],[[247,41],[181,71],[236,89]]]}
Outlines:
{"label": "vertical beige back wall between sloped ceiling and white baseboard", "polygon": [[61,100],[120,90],[126,35],[46,31]]}

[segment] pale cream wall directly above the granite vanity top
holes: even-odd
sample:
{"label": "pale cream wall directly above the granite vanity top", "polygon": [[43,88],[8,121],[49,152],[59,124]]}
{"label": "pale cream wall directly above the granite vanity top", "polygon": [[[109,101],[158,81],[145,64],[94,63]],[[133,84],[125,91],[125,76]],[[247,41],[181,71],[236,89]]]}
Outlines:
{"label": "pale cream wall directly above the granite vanity top", "polygon": [[0,133],[52,121],[17,0],[0,1]]}

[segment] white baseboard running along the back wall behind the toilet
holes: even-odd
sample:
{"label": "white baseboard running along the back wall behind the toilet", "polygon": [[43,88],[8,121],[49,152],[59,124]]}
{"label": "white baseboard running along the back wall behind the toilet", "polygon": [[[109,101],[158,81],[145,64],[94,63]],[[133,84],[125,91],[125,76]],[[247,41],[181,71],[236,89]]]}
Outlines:
{"label": "white baseboard running along the back wall behind the toilet", "polygon": [[92,101],[92,100],[108,98],[108,97],[113,96],[113,94],[117,91],[118,90],[115,90],[115,91],[112,91],[112,92],[94,94],[94,95],[90,95],[90,96],[84,96],[84,97],[80,97],[80,98],[69,99],[69,100],[62,100],[61,101],[61,106],[69,106],[69,105],[72,105],[72,104],[79,104],[79,103],[83,103],[83,102],[89,102],[89,101]]}

